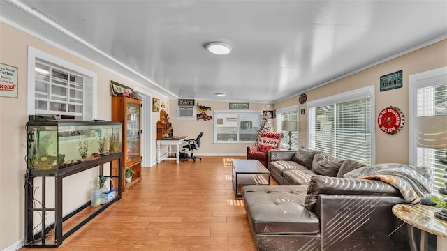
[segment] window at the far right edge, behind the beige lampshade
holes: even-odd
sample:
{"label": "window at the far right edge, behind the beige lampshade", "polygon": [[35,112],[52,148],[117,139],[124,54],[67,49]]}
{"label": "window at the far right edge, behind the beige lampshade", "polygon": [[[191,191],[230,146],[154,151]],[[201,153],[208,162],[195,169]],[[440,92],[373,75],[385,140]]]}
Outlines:
{"label": "window at the far right edge, behind the beige lampshade", "polygon": [[409,87],[409,163],[432,167],[436,194],[446,186],[447,67],[409,76]]}

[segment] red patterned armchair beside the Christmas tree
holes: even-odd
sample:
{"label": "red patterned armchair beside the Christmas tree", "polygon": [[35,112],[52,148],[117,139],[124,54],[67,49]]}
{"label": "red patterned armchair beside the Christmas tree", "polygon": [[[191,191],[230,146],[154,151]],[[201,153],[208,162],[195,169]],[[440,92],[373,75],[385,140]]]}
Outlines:
{"label": "red patterned armchair beside the Christmas tree", "polygon": [[257,146],[247,147],[247,160],[259,160],[264,167],[268,167],[267,153],[270,149],[280,149],[282,137],[281,132],[263,132]]}

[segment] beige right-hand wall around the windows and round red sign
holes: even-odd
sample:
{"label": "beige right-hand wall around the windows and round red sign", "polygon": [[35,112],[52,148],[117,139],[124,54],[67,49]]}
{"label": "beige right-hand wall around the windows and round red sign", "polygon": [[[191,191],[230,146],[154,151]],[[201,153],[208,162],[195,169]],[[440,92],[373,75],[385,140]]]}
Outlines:
{"label": "beige right-hand wall around the windows and round red sign", "polygon": [[[379,112],[385,107],[393,105],[398,107],[404,113],[406,121],[408,118],[408,77],[415,73],[422,73],[426,70],[432,70],[440,67],[447,66],[447,40],[441,40],[433,45],[423,47],[419,50],[404,54],[390,61],[386,61],[372,68],[362,70],[359,73],[344,77],[330,84],[326,84],[319,88],[307,91],[307,102],[324,98],[326,96],[332,96],[338,93],[344,93],[353,89],[358,89],[365,86],[375,86],[375,102],[376,114],[374,116],[375,121]],[[388,73],[394,73],[398,70],[403,71],[403,86],[400,89],[394,89],[390,91],[380,91],[380,77]],[[275,109],[281,107],[287,107],[290,105],[299,104],[298,97],[293,96],[287,100],[278,102],[274,105]],[[299,109],[307,109],[307,103],[299,105]],[[298,113],[300,114],[300,113]],[[299,116],[300,127],[300,146],[306,146],[307,142],[307,110],[305,115]],[[382,132],[376,123],[376,163],[384,162],[396,162],[396,163],[408,163],[408,144],[409,144],[409,131],[408,124],[404,125],[404,128],[395,135],[388,135]]]}

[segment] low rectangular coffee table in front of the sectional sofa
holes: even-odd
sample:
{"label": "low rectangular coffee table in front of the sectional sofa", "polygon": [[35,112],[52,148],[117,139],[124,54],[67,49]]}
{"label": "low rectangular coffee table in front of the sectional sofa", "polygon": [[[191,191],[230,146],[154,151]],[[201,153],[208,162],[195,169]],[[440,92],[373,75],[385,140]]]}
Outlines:
{"label": "low rectangular coffee table in front of the sectional sofa", "polygon": [[270,185],[270,171],[259,160],[233,160],[235,198],[242,199],[244,185]]}

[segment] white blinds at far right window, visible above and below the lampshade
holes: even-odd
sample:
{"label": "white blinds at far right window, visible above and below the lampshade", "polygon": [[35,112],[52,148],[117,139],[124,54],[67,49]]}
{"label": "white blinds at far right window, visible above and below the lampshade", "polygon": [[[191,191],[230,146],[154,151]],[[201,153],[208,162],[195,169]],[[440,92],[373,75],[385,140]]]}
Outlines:
{"label": "white blinds at far right window, visible above and below the lampshade", "polygon": [[[414,89],[416,97],[416,121],[425,116],[447,116],[447,84],[437,86],[425,86]],[[447,117],[446,117],[447,118]],[[446,121],[447,122],[447,121]],[[413,135],[416,135],[414,133]],[[427,166],[434,169],[434,191],[445,187],[447,174],[446,166],[439,163],[439,158],[445,156],[447,149],[437,149],[430,146],[416,146],[416,165]]]}

